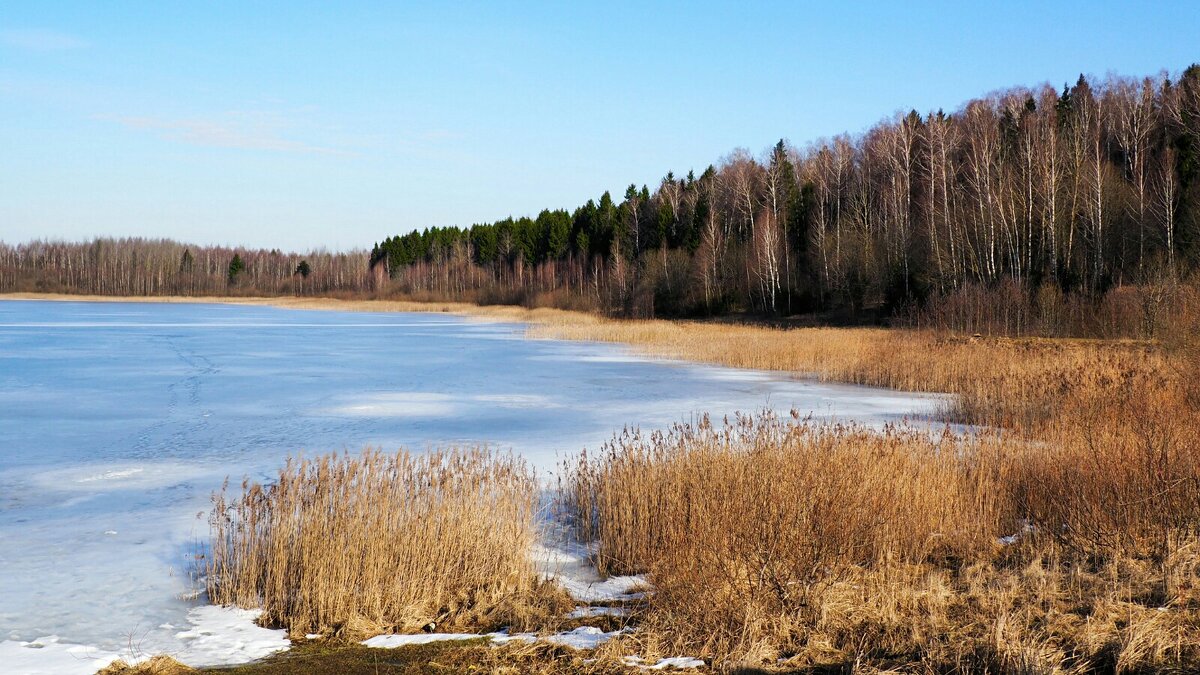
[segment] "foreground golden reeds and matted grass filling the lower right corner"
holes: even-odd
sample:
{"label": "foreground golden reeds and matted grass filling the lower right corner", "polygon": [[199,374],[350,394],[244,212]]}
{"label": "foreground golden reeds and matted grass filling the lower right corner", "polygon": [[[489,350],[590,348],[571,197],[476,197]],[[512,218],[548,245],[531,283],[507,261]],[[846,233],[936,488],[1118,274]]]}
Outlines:
{"label": "foreground golden reeds and matted grass filling the lower right corner", "polygon": [[1186,671],[1200,663],[1195,417],[1150,407],[1177,393],[1130,390],[1146,429],[1169,425],[1157,443],[1112,417],[1133,412],[1121,400],[1091,430],[1046,425],[1040,440],[762,414],[626,431],[569,461],[560,490],[599,565],[649,574],[647,650],[862,671]]}

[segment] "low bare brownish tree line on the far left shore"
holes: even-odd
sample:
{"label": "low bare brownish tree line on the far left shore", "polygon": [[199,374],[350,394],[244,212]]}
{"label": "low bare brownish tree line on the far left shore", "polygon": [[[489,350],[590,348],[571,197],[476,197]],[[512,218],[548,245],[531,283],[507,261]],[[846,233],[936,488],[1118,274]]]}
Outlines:
{"label": "low bare brownish tree line on the far left shore", "polygon": [[169,239],[0,244],[0,291],[100,295],[361,294],[365,251],[305,255]]}

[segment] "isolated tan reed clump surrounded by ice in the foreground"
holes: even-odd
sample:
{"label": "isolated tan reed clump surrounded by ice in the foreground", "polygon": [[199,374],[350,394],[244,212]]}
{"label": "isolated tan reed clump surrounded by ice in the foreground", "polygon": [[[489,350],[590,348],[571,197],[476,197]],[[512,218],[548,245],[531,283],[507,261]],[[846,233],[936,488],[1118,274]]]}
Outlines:
{"label": "isolated tan reed clump surrounded by ice in the foreground", "polygon": [[214,496],[209,598],[292,634],[526,627],[562,602],[529,560],[536,497],[482,448],[289,459]]}

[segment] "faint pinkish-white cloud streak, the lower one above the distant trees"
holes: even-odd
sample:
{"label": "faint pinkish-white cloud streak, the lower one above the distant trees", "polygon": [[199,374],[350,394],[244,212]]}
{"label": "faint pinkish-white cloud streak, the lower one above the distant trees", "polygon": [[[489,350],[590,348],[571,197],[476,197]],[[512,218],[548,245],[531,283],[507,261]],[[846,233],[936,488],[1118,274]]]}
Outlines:
{"label": "faint pinkish-white cloud streak, the lower one above the distant trees", "polygon": [[306,153],[341,155],[341,150],[313,145],[302,141],[284,138],[271,125],[244,125],[236,120],[162,119],[151,117],[112,118],[130,129],[151,131],[167,141],[204,145],[209,148],[234,148],[239,150],[268,150],[272,153]]}

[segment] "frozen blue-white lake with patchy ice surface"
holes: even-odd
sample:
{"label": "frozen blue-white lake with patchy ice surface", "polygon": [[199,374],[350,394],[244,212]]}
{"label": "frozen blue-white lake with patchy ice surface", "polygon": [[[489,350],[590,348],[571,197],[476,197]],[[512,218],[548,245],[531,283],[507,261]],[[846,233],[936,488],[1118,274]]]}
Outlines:
{"label": "frozen blue-white lake with patchy ice surface", "polygon": [[0,300],[0,657],[46,635],[185,649],[212,490],[289,453],[490,443],[545,472],[624,425],[878,423],[937,401],[445,315]]}

